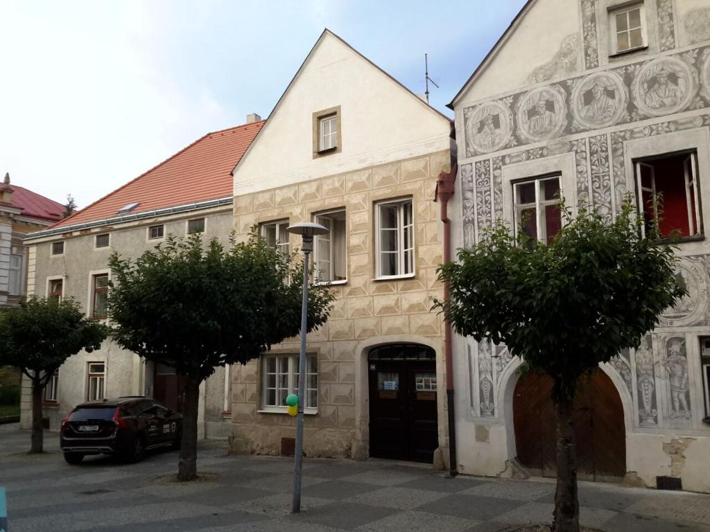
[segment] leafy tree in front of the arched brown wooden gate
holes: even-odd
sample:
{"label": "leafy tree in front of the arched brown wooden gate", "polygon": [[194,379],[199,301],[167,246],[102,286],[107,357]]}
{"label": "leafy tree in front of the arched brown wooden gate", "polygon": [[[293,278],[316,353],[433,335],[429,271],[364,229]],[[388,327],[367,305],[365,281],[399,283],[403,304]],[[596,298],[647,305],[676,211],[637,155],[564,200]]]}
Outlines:
{"label": "leafy tree in front of the arched brown wooden gate", "polygon": [[438,301],[464,336],[503,343],[524,370],[552,377],[557,419],[556,532],[579,531],[573,401],[580,379],[624,348],[637,348],[685,293],[672,248],[642,238],[629,201],[605,223],[580,206],[549,245],[498,223],[458,262],[439,267],[451,296]]}

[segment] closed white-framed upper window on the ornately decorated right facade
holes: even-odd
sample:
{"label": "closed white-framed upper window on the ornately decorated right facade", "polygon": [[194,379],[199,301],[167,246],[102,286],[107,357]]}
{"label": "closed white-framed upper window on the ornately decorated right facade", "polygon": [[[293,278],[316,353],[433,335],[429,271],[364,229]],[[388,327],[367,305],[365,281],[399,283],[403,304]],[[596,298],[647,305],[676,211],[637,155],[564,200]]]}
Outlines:
{"label": "closed white-framed upper window on the ornately decorated right facade", "polygon": [[562,228],[559,175],[533,177],[513,183],[516,231],[551,243]]}

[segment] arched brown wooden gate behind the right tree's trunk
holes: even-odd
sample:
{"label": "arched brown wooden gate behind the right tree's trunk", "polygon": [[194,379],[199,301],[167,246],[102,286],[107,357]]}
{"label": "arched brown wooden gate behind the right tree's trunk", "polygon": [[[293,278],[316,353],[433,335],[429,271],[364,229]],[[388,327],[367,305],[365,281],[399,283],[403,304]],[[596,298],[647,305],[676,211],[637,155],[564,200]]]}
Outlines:
{"label": "arched brown wooden gate behind the right tree's trunk", "polygon": [[[520,377],[513,395],[515,448],[520,465],[532,475],[557,476],[552,379],[530,373]],[[614,481],[626,474],[626,427],[616,387],[594,370],[574,400],[577,474],[580,480]]]}

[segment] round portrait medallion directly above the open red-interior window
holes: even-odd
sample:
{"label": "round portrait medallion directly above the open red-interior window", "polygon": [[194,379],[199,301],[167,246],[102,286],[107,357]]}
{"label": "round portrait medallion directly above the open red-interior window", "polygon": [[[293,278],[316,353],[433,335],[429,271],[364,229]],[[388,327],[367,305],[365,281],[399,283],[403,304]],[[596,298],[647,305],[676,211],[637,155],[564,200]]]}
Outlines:
{"label": "round portrait medallion directly above the open red-interior window", "polygon": [[648,62],[638,70],[633,84],[637,109],[645,116],[662,116],[684,109],[694,94],[694,74],[676,57]]}

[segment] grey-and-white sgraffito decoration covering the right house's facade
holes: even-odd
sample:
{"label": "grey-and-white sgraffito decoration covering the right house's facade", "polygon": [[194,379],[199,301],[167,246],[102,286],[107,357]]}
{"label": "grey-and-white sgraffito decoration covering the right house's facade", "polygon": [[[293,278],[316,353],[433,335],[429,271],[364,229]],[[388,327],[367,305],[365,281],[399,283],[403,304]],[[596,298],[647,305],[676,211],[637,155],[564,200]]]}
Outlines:
{"label": "grey-and-white sgraffito decoration covering the right house's facade", "polygon": [[[581,1],[587,69],[599,66],[594,4]],[[658,0],[656,7],[659,46],[669,52],[465,109],[466,132],[473,128],[495,141],[484,143],[479,136],[471,142],[468,133],[464,139],[459,175],[466,247],[503,217],[503,187],[509,186],[503,176],[509,165],[570,155],[574,190],[567,195],[591,204],[611,221],[633,192],[626,143],[710,130],[710,47],[670,52],[677,46],[673,4]],[[482,117],[493,112],[498,118],[484,121]],[[476,125],[469,126],[469,120]],[[642,338],[637,349],[623,351],[604,368],[630,405],[633,431],[704,430],[704,405],[694,390],[702,386],[698,336],[710,336],[710,250],[679,257],[677,276],[688,288],[687,297],[661,316],[657,329]],[[513,373],[507,368],[519,360],[502,345],[467,343],[471,416],[500,419],[496,401],[502,397],[500,387],[507,385],[503,376]]]}

